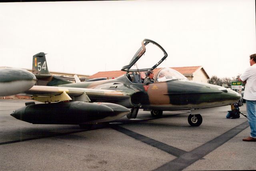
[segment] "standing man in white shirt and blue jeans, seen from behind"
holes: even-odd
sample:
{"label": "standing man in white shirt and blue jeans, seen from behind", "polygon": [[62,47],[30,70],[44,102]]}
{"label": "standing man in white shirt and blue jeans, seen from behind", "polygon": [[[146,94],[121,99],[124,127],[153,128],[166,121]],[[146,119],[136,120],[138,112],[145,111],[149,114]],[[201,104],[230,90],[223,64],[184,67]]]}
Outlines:
{"label": "standing man in white shirt and blue jeans, seen from behind", "polygon": [[256,54],[250,56],[250,67],[240,76],[238,81],[244,82],[244,99],[246,99],[246,112],[251,128],[249,137],[243,141],[256,141]]}

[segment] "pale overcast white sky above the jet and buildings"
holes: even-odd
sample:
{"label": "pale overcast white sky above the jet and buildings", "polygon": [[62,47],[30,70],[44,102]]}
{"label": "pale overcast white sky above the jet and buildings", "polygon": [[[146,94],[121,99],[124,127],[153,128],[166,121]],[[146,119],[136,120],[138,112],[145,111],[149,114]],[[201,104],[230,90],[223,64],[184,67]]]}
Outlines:
{"label": "pale overcast white sky above the jet and buildings", "polygon": [[203,66],[210,77],[232,78],[256,53],[255,16],[255,0],[0,3],[0,66],[31,69],[44,52],[54,72],[121,70],[150,39],[168,54],[159,68]]}

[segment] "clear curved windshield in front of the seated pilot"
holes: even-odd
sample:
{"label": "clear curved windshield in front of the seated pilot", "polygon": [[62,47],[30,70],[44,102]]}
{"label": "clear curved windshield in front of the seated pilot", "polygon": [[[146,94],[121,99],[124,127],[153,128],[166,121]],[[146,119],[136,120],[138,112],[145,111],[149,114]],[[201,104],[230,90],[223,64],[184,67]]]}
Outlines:
{"label": "clear curved windshield in front of the seated pilot", "polygon": [[188,80],[188,79],[172,68],[162,68],[156,76],[156,82],[165,82],[169,80]]}

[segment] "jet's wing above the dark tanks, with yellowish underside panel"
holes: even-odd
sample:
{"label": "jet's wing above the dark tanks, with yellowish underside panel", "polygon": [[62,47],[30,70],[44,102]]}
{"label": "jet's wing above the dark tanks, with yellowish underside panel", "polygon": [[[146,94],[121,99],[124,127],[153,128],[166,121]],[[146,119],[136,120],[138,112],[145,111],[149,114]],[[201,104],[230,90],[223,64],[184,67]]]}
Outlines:
{"label": "jet's wing above the dark tanks, with yellowish underside panel", "polygon": [[19,95],[31,96],[32,99],[47,102],[58,101],[84,101],[84,102],[108,102],[112,99],[119,103],[131,103],[130,95],[117,90],[89,89],[76,87],[55,87],[34,85],[29,90]]}

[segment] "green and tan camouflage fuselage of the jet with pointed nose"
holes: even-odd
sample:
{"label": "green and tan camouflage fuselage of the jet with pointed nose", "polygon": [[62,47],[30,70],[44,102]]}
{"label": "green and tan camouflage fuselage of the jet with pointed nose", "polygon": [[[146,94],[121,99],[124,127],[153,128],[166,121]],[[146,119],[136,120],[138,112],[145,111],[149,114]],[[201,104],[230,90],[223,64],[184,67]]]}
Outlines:
{"label": "green and tan camouflage fuselage of the jet with pointed nose", "polygon": [[[82,82],[80,84],[64,84],[60,87],[80,87],[90,89],[119,90],[130,95],[130,101],[124,105],[128,108],[140,106],[142,109],[198,109],[229,105],[240,99],[240,95],[218,85],[203,84],[189,80],[170,80],[167,82],[154,82],[144,85],[132,83],[126,75],[113,80],[101,80],[97,82]],[[220,90],[223,89],[223,90]],[[145,90],[147,89],[147,91]],[[107,98],[94,99],[91,101],[102,101],[117,103]]]}

